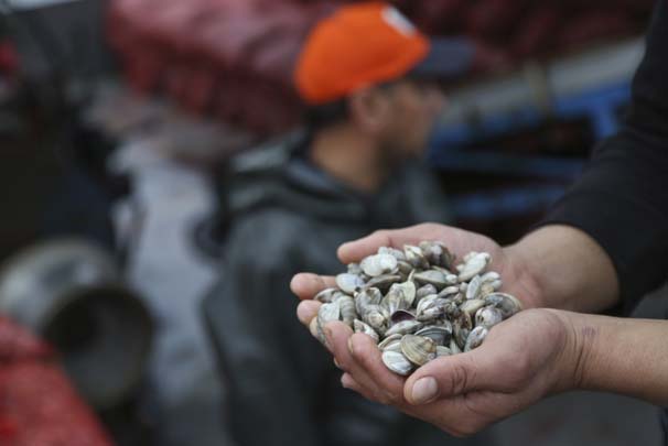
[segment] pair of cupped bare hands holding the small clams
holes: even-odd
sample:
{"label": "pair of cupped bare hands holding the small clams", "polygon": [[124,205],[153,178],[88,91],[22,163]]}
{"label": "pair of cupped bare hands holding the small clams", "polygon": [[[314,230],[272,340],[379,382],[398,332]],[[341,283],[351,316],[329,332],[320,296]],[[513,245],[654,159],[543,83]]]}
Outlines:
{"label": "pair of cupped bare hands holding the small clams", "polygon": [[[345,243],[338,258],[343,263],[358,262],[379,247],[401,249],[423,240],[444,242],[459,259],[471,251],[491,253],[489,269],[500,273],[503,291],[517,296],[525,311],[493,327],[477,349],[435,359],[408,378],[385,367],[370,337],[354,334],[343,323],[330,323],[324,329],[326,347],[343,371],[343,387],[455,436],[473,435],[545,396],[578,387],[582,352],[570,313],[540,308],[543,303],[531,265],[511,250],[484,236],[427,224]],[[321,305],[313,296],[328,286],[334,286],[333,278],[310,273],[293,278],[291,289],[302,301],[298,317],[306,327]]]}

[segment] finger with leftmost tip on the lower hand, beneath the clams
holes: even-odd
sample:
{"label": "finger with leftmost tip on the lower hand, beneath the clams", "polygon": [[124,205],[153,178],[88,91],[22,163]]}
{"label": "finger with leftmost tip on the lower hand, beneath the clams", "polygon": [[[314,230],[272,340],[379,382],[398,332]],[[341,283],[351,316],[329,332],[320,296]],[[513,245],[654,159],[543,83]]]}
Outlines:
{"label": "finger with leftmost tip on the lower hand, beneath the clams", "polygon": [[[359,393],[373,395],[373,398],[368,398],[369,400],[389,404],[390,399],[388,395],[386,395],[384,391],[376,385],[373,379],[366,376],[364,369],[359,367],[351,355],[348,347],[348,340],[353,336],[353,330],[351,327],[343,323],[330,323],[325,326],[325,336],[327,338],[330,350],[336,358],[336,362],[338,363],[340,368],[349,373],[355,381],[362,388],[364,388],[364,392]],[[368,336],[365,335],[365,337]]]}

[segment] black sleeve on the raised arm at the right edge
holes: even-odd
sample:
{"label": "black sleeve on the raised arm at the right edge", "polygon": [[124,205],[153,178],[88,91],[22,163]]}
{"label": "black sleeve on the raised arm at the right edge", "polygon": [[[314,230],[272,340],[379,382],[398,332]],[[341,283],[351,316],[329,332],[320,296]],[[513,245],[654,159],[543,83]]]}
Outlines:
{"label": "black sleeve on the raised arm at the right edge", "polygon": [[611,257],[627,309],[668,276],[668,6],[659,0],[632,107],[543,225],[592,236]]}

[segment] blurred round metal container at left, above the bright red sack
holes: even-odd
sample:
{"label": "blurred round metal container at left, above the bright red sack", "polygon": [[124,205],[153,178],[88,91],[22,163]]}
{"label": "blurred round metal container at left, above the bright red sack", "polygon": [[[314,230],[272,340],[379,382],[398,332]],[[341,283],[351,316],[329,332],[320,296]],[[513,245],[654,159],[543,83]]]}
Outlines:
{"label": "blurred round metal container at left, above the bright red sack", "polygon": [[143,378],[153,324],[96,246],[57,240],[10,259],[0,271],[0,313],[51,342],[97,410],[127,401]]}

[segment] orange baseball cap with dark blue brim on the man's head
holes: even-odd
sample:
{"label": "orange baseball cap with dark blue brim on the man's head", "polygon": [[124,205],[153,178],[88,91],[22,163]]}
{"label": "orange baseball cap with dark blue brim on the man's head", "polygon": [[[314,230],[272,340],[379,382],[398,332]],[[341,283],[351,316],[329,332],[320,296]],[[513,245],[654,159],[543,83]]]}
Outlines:
{"label": "orange baseball cap with dark blue brim on the man's head", "polygon": [[430,41],[388,3],[356,3],[315,25],[298,59],[294,83],[304,102],[324,105],[407,75],[461,75],[471,68],[473,56],[467,40]]}

